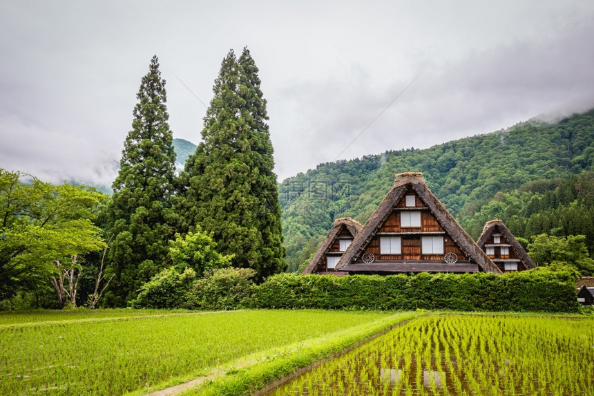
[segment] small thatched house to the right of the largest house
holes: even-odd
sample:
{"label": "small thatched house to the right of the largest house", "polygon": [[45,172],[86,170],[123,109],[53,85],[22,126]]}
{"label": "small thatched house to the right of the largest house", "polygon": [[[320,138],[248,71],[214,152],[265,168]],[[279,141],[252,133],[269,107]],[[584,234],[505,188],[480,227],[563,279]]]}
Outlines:
{"label": "small thatched house to the right of the largest house", "polygon": [[501,220],[487,222],[477,245],[503,272],[524,271],[536,267],[524,247]]}

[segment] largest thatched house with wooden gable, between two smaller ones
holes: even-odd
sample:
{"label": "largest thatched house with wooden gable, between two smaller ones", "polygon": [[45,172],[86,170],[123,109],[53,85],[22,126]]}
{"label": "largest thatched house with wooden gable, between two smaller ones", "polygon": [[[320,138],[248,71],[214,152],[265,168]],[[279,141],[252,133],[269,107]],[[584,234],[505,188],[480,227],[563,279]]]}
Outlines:
{"label": "largest thatched house with wooden gable, between two smaller ones", "polygon": [[399,173],[336,270],[349,274],[495,272],[483,252],[432,194],[422,173]]}

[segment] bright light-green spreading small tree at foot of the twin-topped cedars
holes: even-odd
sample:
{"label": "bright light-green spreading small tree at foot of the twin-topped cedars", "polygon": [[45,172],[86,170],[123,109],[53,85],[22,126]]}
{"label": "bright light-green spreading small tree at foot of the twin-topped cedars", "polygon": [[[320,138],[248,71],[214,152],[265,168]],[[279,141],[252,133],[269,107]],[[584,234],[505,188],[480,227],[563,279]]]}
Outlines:
{"label": "bright light-green spreading small tree at foot of the twin-topped cedars", "polygon": [[202,277],[204,272],[231,265],[233,257],[222,256],[216,247],[212,234],[202,232],[197,226],[195,232],[189,232],[184,238],[175,234],[175,240],[169,241],[169,259],[178,272],[191,268]]}

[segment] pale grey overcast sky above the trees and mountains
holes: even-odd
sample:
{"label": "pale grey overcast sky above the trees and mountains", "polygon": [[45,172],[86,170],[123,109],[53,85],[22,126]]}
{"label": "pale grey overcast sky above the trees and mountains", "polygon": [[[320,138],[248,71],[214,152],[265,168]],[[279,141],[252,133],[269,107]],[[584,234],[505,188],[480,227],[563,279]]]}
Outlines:
{"label": "pale grey overcast sky above the trees and mountains", "polygon": [[173,137],[198,144],[194,95],[247,46],[283,180],[590,109],[593,38],[591,0],[0,0],[0,167],[111,185],[155,54]]}

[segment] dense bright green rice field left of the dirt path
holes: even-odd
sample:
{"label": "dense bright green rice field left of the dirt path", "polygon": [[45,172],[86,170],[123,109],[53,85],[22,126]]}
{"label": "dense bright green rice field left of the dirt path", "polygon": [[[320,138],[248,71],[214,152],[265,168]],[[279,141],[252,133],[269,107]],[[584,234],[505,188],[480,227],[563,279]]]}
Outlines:
{"label": "dense bright green rice field left of the dirt path", "polygon": [[[269,350],[378,332],[403,318],[320,310],[4,313],[0,395],[142,394],[256,353],[270,359]],[[357,337],[367,337],[361,331]]]}

